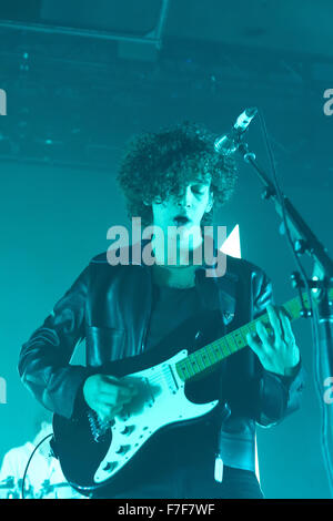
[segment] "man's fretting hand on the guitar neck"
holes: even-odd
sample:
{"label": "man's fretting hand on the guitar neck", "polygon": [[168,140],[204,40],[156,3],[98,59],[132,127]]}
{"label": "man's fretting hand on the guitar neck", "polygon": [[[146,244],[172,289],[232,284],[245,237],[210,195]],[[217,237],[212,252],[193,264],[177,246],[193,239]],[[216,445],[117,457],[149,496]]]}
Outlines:
{"label": "man's fretting hand on the guitar neck", "polygon": [[[268,371],[282,376],[293,376],[300,361],[300,349],[296,346],[290,319],[283,308],[268,305],[272,334],[259,320],[256,334],[246,335],[246,341],[258,355],[262,366]],[[258,338],[259,337],[259,338]]]}

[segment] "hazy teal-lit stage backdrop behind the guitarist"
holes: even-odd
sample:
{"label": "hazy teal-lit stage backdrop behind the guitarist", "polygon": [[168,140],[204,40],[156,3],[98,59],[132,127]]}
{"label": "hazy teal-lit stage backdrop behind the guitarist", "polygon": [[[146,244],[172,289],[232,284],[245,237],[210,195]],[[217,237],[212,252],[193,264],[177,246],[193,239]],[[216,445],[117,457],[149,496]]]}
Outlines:
{"label": "hazy teal-lit stage backdrop behind the guitarist", "polygon": [[[134,13],[129,6],[138,3],[145,7]],[[0,377],[8,395],[0,403],[0,461],[33,438],[40,410],[18,376],[21,345],[108,248],[108,228],[129,224],[115,175],[131,135],[184,120],[224,134],[246,106],[259,106],[281,187],[332,255],[333,115],[323,112],[323,94],[333,88],[332,0],[171,0],[160,49],[73,29],[89,19],[95,31],[145,34],[157,21],[152,3],[0,4],[0,89],[8,102],[0,118]],[[24,30],[29,20],[41,22],[42,4],[49,32]],[[8,18],[23,28],[3,25]],[[67,34],[52,29],[56,19],[71,28]],[[246,135],[271,174],[258,118]],[[282,304],[296,295],[295,264],[273,204],[239,163],[236,192],[215,222],[230,232],[240,225],[243,258],[265,269]],[[302,260],[311,275],[311,260]],[[307,382],[297,412],[258,431],[262,488],[268,498],[327,498],[310,323],[293,329]],[[84,360],[83,347],[75,362]]]}

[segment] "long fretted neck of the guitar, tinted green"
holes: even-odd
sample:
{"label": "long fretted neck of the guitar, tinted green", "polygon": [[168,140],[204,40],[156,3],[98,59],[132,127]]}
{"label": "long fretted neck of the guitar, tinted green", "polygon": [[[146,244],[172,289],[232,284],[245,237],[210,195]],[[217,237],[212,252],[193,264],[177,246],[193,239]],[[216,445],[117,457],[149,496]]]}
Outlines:
{"label": "long fretted neck of the guitar, tinted green", "polygon": [[[330,299],[333,298],[333,288],[330,289],[329,297]],[[307,294],[305,293],[303,294],[303,302],[305,308],[310,309]],[[301,317],[302,304],[300,297],[289,300],[282,307],[291,321]],[[218,368],[222,360],[248,346],[246,334],[256,333],[256,323],[259,321],[261,321],[269,331],[271,330],[269,315],[265,313],[255,320],[208,344],[176,362],[175,370],[179,377],[183,381],[188,381],[194,377],[204,376],[205,372]]]}

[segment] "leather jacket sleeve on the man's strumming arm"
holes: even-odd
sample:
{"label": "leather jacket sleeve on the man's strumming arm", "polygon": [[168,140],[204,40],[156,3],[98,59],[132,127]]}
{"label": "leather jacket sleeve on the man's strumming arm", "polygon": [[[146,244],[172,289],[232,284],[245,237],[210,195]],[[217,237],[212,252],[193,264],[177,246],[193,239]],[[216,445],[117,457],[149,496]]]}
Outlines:
{"label": "leather jacket sleeve on the man's strumming arm", "polygon": [[56,304],[52,313],[23,344],[19,374],[23,385],[49,410],[70,418],[75,398],[90,370],[70,365],[84,338],[89,266]]}

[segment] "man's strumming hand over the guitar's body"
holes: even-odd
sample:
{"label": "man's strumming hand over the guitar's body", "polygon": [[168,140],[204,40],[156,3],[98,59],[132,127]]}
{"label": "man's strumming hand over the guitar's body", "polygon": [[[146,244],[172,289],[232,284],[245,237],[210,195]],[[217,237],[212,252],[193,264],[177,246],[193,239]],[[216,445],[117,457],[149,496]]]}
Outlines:
{"label": "man's strumming hand over the guitar's body", "polygon": [[83,386],[87,403],[103,421],[111,421],[135,395],[133,386],[108,375],[92,375]]}

